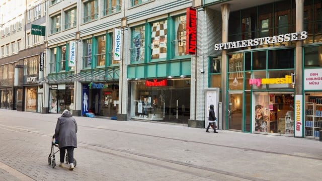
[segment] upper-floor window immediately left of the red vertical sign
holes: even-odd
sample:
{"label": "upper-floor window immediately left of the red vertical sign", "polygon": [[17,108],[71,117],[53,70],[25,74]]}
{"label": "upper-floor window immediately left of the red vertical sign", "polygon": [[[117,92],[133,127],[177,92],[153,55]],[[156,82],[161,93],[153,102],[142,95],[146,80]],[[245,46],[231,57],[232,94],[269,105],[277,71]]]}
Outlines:
{"label": "upper-floor window immediately left of the red vertical sign", "polygon": [[182,56],[186,54],[186,24],[186,15],[175,18],[176,36],[175,40],[173,41],[175,56]]}

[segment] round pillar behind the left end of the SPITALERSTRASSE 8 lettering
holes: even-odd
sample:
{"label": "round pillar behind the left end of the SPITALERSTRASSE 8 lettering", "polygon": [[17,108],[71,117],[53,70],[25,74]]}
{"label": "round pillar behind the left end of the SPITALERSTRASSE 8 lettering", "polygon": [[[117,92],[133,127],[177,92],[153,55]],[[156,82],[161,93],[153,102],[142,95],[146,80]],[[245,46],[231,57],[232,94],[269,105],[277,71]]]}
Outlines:
{"label": "round pillar behind the left end of the SPITALERSTRASSE 8 lettering", "polygon": [[[229,4],[221,5],[222,17],[222,43],[228,42],[228,20],[229,20]],[[221,54],[221,100],[222,100],[222,129],[226,129],[226,114],[227,114],[227,51],[222,50]]]}

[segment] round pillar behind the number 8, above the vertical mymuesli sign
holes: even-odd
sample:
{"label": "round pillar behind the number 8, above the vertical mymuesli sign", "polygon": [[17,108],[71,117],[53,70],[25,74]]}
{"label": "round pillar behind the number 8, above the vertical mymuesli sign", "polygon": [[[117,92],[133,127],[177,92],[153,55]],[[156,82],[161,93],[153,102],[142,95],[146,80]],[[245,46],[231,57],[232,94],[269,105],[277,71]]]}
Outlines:
{"label": "round pillar behind the number 8, above the vertical mymuesli sign", "polygon": [[[304,0],[295,0],[296,3],[296,32],[303,31],[303,9]],[[295,95],[303,95],[303,85],[302,85],[302,57],[303,57],[303,40],[296,41],[295,48]]]}

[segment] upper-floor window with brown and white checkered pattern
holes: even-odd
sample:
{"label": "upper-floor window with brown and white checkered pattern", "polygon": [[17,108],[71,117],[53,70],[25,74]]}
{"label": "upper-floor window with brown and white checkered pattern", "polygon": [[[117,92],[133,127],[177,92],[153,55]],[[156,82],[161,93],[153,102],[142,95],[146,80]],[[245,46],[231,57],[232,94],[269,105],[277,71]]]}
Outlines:
{"label": "upper-floor window with brown and white checkered pattern", "polygon": [[151,59],[167,58],[167,30],[167,20],[151,25]]}

